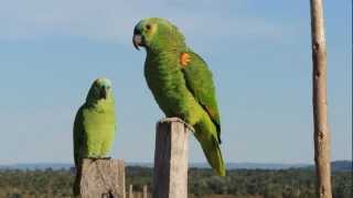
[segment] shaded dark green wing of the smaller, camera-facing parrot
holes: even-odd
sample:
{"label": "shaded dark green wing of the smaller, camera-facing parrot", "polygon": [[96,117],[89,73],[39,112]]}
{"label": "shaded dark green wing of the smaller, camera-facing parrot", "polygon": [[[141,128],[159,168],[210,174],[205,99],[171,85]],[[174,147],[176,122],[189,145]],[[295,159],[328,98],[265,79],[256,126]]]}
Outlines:
{"label": "shaded dark green wing of the smaller, camera-facing parrot", "polygon": [[85,128],[83,111],[84,106],[78,109],[74,121],[74,160],[76,167],[79,165],[79,158],[84,155]]}

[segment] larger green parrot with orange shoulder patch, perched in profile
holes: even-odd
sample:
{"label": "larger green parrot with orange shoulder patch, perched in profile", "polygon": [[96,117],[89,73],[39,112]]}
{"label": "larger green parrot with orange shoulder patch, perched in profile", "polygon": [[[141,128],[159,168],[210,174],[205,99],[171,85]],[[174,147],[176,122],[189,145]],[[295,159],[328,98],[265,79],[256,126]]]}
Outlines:
{"label": "larger green parrot with orange shoulder patch, perched in profile", "polygon": [[194,128],[207,162],[225,176],[220,112],[212,74],[171,22],[141,20],[133,30],[133,46],[146,48],[145,77],[167,117],[178,117]]}

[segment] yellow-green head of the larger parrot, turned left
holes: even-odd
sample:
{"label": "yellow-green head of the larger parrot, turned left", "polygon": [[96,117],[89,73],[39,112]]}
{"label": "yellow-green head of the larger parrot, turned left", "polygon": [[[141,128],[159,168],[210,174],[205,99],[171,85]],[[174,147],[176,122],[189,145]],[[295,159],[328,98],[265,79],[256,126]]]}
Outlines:
{"label": "yellow-green head of the larger parrot, turned left", "polygon": [[148,18],[137,23],[132,36],[133,46],[146,50],[173,50],[184,45],[184,36],[175,25],[165,19]]}

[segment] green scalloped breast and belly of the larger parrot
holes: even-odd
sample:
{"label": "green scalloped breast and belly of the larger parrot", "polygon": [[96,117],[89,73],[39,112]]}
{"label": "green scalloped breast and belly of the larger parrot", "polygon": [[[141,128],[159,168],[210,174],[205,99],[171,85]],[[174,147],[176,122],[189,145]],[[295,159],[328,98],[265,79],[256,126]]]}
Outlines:
{"label": "green scalloped breast and belly of the larger parrot", "polygon": [[165,116],[179,117],[189,122],[197,103],[186,87],[179,66],[179,56],[175,53],[148,55],[145,76],[157,103]]}

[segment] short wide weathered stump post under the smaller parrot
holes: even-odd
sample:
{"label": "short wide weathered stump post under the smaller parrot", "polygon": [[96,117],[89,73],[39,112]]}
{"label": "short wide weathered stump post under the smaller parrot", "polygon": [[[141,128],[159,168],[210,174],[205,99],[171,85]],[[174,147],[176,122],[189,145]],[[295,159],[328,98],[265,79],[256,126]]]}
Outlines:
{"label": "short wide weathered stump post under the smaller parrot", "polygon": [[84,158],[79,179],[82,198],[125,198],[125,165],[120,160]]}

